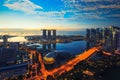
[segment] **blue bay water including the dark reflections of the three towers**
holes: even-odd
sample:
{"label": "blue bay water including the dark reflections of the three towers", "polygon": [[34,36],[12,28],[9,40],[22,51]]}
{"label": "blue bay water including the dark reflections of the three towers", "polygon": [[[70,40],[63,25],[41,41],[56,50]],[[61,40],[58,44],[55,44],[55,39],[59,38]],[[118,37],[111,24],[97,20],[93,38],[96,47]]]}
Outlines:
{"label": "blue bay water including the dark reflections of the three towers", "polygon": [[73,56],[80,54],[86,49],[86,41],[73,41],[70,43],[43,44],[44,50],[63,50]]}

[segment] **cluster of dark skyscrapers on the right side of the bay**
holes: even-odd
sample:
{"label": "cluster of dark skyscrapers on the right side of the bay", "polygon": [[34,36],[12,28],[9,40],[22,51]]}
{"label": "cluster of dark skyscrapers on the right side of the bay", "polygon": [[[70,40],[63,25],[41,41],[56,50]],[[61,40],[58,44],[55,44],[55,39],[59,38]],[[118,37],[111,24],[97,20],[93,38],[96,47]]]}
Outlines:
{"label": "cluster of dark skyscrapers on the right side of the bay", "polygon": [[120,46],[119,34],[120,28],[117,26],[96,29],[92,28],[91,30],[87,29],[86,37],[90,38],[90,44],[88,42],[88,47],[94,46],[95,44],[102,42],[104,44],[104,49],[114,51]]}

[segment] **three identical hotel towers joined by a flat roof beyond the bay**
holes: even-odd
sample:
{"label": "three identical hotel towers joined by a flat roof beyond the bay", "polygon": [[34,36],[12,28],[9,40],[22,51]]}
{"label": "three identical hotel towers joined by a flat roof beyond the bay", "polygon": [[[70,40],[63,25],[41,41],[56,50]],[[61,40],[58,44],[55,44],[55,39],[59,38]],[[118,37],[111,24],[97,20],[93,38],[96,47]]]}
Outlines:
{"label": "three identical hotel towers joined by a flat roof beyond the bay", "polygon": [[42,29],[42,38],[44,40],[55,40],[56,30],[55,29]]}

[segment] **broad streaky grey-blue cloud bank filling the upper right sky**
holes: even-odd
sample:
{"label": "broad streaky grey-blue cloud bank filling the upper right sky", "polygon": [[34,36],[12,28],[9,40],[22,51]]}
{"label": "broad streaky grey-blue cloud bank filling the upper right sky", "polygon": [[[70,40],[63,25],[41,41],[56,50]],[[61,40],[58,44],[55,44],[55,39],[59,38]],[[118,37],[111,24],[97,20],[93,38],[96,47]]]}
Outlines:
{"label": "broad streaky grey-blue cloud bank filling the upper right sky", "polygon": [[[119,0],[62,0],[67,11],[77,18],[106,19],[107,15],[118,16]],[[87,14],[86,14],[87,13]]]}

